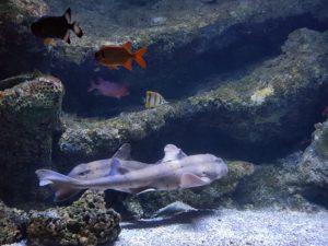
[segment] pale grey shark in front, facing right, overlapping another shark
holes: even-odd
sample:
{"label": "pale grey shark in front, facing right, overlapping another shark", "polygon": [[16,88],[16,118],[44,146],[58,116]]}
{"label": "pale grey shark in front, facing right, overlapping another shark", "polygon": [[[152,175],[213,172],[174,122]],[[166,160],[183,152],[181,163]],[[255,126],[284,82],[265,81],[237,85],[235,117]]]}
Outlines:
{"label": "pale grey shark in front, facing right, overlapping another shark", "polygon": [[155,190],[186,189],[208,185],[227,174],[227,166],[223,160],[212,154],[188,156],[174,144],[167,144],[164,152],[164,157],[157,164],[120,160],[115,156],[112,159],[110,168],[104,168],[107,173],[101,177],[72,177],[77,167],[69,175],[50,169],[37,169],[35,173],[39,178],[39,186],[55,185],[56,197],[60,195],[60,190],[66,189],[115,189],[137,195]]}

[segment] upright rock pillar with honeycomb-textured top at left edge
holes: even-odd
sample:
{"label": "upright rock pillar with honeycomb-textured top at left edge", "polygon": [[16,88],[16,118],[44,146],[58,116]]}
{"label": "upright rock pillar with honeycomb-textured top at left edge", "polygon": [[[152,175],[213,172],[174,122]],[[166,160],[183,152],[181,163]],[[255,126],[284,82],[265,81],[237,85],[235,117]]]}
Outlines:
{"label": "upright rock pillar with honeycomb-textured top at left edge", "polygon": [[0,174],[0,194],[5,201],[11,201],[11,192],[31,195],[27,177],[37,166],[49,164],[63,96],[63,86],[54,77],[20,79],[21,83],[1,91],[0,98],[0,167],[5,169]]}

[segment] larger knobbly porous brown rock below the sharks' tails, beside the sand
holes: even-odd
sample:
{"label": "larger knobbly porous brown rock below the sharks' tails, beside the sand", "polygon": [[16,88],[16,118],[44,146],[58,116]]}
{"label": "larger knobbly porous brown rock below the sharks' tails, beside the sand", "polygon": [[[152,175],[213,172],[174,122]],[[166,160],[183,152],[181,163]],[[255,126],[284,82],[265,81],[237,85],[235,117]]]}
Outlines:
{"label": "larger knobbly porous brown rock below the sharks' tails, beside the sand", "polygon": [[95,246],[115,241],[120,215],[106,209],[103,192],[86,191],[67,208],[31,211],[27,238],[31,245]]}

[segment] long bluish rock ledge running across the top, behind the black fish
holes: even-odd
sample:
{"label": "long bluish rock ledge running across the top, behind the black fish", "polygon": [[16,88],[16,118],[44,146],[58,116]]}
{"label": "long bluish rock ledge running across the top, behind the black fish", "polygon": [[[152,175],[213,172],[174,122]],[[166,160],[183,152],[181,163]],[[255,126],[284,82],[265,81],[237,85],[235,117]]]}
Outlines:
{"label": "long bluish rock ledge running across the top, behind the black fish", "polygon": [[[61,13],[68,5],[65,1],[46,2],[54,14]],[[222,48],[236,40],[241,30],[245,33],[251,33],[253,30],[258,32],[258,25],[268,22],[276,22],[276,25],[266,32],[286,26],[286,19],[302,20],[304,15],[318,19],[320,8],[325,5],[323,0],[232,0],[218,1],[215,4],[188,0],[134,2],[139,4],[115,0],[101,0],[97,5],[90,0],[83,4],[70,2],[85,37],[78,40],[73,48],[61,46],[57,56],[63,56],[66,60],[71,57],[71,60],[82,62],[89,57],[86,54],[94,51],[97,46],[121,44],[130,39],[136,47],[151,47],[153,59],[167,60],[177,50],[192,48],[200,54],[210,48]],[[156,22],[161,17],[165,19],[164,23]],[[195,56],[192,52],[187,54]],[[77,57],[79,55],[81,58]],[[184,59],[188,58],[184,56]]]}

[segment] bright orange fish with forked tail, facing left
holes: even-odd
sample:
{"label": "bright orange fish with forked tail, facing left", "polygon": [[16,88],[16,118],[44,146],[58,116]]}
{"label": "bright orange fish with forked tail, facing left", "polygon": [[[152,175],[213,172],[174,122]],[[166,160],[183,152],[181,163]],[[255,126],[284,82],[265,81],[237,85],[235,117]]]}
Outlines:
{"label": "bright orange fish with forked tail, facing left", "polygon": [[134,59],[141,68],[147,67],[145,60],[142,57],[145,52],[145,47],[139,49],[137,52],[132,52],[131,42],[127,42],[122,46],[103,46],[99,51],[95,52],[95,59],[109,69],[118,69],[119,66],[122,66],[131,71],[132,59]]}

